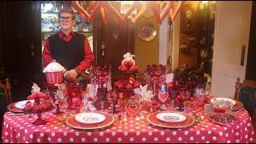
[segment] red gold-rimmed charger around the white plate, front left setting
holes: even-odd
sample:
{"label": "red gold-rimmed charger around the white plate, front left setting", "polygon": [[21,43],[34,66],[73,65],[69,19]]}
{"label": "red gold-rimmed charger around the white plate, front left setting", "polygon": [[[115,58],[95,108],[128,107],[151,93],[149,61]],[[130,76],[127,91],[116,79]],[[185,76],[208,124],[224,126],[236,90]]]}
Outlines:
{"label": "red gold-rimmed charger around the white plate, front left setting", "polygon": [[70,115],[70,117],[66,118],[66,125],[73,127],[75,129],[80,129],[80,130],[95,130],[95,129],[105,128],[114,123],[114,117],[111,114],[99,113],[99,112],[94,112],[94,113],[102,114],[106,117],[106,119],[103,122],[97,122],[97,123],[91,123],[91,124],[82,123],[82,122],[78,122],[75,119],[78,114],[81,114],[81,113],[78,113],[78,114]]}

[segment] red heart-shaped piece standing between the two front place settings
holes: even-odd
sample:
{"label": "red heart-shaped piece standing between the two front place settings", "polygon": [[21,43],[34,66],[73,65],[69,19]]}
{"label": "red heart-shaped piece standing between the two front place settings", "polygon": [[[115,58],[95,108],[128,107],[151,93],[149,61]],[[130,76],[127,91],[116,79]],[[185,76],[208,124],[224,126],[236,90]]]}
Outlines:
{"label": "red heart-shaped piece standing between the two front place settings", "polygon": [[130,116],[135,116],[141,110],[141,105],[139,102],[128,101],[126,102],[126,112],[130,114]]}

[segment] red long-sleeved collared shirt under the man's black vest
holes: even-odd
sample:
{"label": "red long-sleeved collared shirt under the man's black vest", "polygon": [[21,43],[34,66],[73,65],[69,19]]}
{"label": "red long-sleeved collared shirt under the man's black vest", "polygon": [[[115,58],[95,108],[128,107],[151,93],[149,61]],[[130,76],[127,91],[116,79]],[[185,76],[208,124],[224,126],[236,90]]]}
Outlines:
{"label": "red long-sleeved collared shirt under the man's black vest", "polygon": [[[74,37],[74,32],[72,31],[70,34],[64,34],[62,31],[58,32],[58,37],[62,38],[66,42],[69,42],[71,38]],[[50,47],[49,47],[49,41],[48,38],[46,39],[44,50],[42,52],[42,64],[44,67],[46,67],[50,62],[52,62],[54,58],[50,54]],[[86,70],[94,63],[94,54],[90,49],[90,44],[88,42],[88,39],[85,38],[84,42],[84,56],[82,59],[82,62],[78,66],[75,67],[75,70],[77,70],[78,73]]]}

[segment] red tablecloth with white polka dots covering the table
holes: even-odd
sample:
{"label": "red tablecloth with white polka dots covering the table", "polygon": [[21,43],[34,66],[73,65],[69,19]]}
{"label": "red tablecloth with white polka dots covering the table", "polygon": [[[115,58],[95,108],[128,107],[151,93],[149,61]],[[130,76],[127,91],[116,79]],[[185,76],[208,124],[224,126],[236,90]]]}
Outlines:
{"label": "red tablecloth with white polka dots covering the table", "polygon": [[[195,112],[202,112],[202,108]],[[118,129],[117,121],[106,129],[76,130],[60,122],[58,116],[53,113],[51,111],[42,114],[46,125],[34,126],[32,122],[36,118],[13,116],[11,112],[6,112],[2,125],[2,142],[255,142],[251,118],[245,109],[234,112],[238,115],[238,121],[230,125],[220,126],[206,119],[206,125],[196,121],[194,126],[182,129],[164,129],[147,122],[136,121],[135,118],[128,118],[122,129]]]}

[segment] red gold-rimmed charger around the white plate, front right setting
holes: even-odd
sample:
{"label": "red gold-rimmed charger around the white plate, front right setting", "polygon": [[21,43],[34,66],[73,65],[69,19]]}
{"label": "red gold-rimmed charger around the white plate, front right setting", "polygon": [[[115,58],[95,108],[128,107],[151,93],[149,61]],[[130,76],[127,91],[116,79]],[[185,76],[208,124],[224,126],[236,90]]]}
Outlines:
{"label": "red gold-rimmed charger around the white plate, front right setting", "polygon": [[[166,122],[162,121],[161,119],[157,118],[158,114],[178,114],[186,117],[186,119],[183,121],[178,121],[178,122]],[[184,118],[183,118],[184,119]],[[194,125],[194,117],[191,117],[189,114],[183,113],[183,112],[178,112],[178,111],[158,111],[154,112],[152,114],[149,114],[146,118],[147,122],[150,122],[150,124],[154,126],[159,126],[159,127],[164,127],[164,128],[172,128],[172,129],[177,129],[177,128],[185,128],[188,126]]]}

